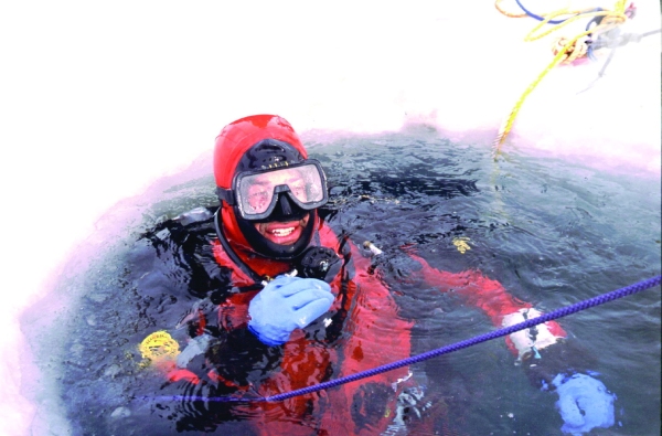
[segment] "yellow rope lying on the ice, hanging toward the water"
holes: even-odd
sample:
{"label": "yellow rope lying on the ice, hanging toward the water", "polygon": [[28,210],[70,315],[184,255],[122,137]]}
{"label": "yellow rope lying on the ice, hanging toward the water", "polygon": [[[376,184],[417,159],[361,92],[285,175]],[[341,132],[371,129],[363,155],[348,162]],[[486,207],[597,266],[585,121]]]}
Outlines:
{"label": "yellow rope lying on the ice, hanging toward the water", "polygon": [[[499,0],[496,1],[496,3],[499,3]],[[496,6],[496,9],[501,12],[501,9],[499,8],[499,6]],[[558,26],[555,26],[555,28],[551,29],[549,31],[543,32],[541,34],[535,34],[535,32],[537,32],[543,25],[545,25],[549,20],[553,20],[555,17],[567,15],[569,13],[578,13],[578,12],[569,12],[568,10],[558,10],[558,11],[552,12],[547,15],[544,15],[545,20],[542,21],[541,24],[536,25],[526,35],[524,41],[526,41],[526,42],[535,41],[535,40],[538,40],[543,36],[548,35],[549,33],[558,30],[563,25],[567,25],[570,22],[576,21],[579,18],[584,19],[587,17],[605,17],[601,20],[600,25],[597,25],[595,29],[581,32],[578,35],[576,35],[575,38],[569,39],[569,40],[564,39],[564,38],[556,40],[556,42],[554,44],[554,50],[553,50],[554,59],[547,65],[547,67],[545,70],[543,70],[543,72],[541,74],[538,74],[536,79],[533,81],[528,85],[528,87],[524,91],[524,93],[520,96],[520,98],[515,103],[515,106],[513,107],[509,117],[506,118],[505,123],[501,126],[501,129],[499,130],[499,135],[493,143],[495,157],[501,152],[501,146],[503,145],[503,142],[505,141],[505,138],[510,134],[510,131],[513,127],[513,123],[515,121],[515,117],[520,113],[520,109],[522,108],[524,100],[533,92],[533,89],[535,89],[535,87],[541,83],[541,81],[547,75],[547,73],[549,73],[549,71],[552,71],[552,68],[554,68],[556,65],[558,65],[562,62],[573,62],[578,57],[585,56],[586,51],[587,51],[587,44],[586,44],[585,38],[588,34],[599,34],[599,33],[606,32],[610,29],[613,29],[615,26],[617,26],[619,24],[622,24],[627,20],[627,17],[624,14],[626,0],[617,1],[613,9],[615,9],[613,11],[583,12],[581,14],[579,14],[577,17],[573,17],[573,18],[564,21]]]}

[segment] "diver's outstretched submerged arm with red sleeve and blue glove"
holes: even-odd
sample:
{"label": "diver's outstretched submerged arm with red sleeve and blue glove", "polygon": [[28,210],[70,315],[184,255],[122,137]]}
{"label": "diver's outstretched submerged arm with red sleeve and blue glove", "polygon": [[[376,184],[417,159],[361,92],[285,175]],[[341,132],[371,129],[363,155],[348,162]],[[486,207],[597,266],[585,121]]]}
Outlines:
{"label": "diver's outstretched submerged arm with red sleeve and blue glove", "polygon": [[[420,274],[428,284],[442,291],[453,290],[481,308],[496,327],[509,327],[541,312],[530,304],[509,295],[503,286],[478,272],[442,273],[412,253],[423,266]],[[579,434],[595,427],[613,425],[613,401],[605,384],[596,379],[595,360],[576,340],[554,321],[511,333],[506,338],[511,351],[534,386],[558,395],[556,410],[564,421],[564,433]]]}

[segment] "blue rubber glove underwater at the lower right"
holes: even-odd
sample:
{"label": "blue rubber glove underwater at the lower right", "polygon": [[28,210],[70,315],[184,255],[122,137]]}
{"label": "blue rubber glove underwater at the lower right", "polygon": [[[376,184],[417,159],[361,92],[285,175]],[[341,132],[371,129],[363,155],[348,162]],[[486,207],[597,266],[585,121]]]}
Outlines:
{"label": "blue rubber glove underwater at the lower right", "polygon": [[616,395],[607,391],[600,382],[586,374],[567,377],[558,374],[552,381],[558,393],[556,408],[560,413],[564,433],[581,434],[594,427],[613,425],[613,400]]}

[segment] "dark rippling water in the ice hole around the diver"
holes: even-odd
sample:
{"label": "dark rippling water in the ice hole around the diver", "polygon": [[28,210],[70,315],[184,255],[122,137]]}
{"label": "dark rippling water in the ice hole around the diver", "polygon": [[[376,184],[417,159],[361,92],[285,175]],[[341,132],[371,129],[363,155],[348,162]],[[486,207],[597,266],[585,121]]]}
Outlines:
{"label": "dark rippling water in the ice hole around the diver", "polygon": [[[307,145],[328,172],[327,221],[354,242],[381,247],[387,280],[415,278],[415,265],[399,249],[414,245],[439,269],[480,269],[549,311],[661,272],[659,178],[523,156],[494,162],[485,147],[451,143],[425,128],[310,137]],[[142,397],[162,393],[163,383],[141,365],[137,347],[160,323],[177,322],[180,305],[194,301],[182,291],[178,270],[161,275],[171,281],[145,286],[141,277],[154,265],[139,235],[215,204],[211,163],[203,163],[118,205],[126,213],[110,215],[97,240],[117,223],[126,223],[125,230],[97,242],[97,253],[86,253],[84,263],[72,259],[70,276],[54,290],[66,304],[45,320],[44,306],[24,317],[23,329],[39,343],[44,373],[54,374],[51,392],[60,396],[75,435],[170,434],[182,414],[195,419],[200,413]],[[458,238],[470,249],[460,253]],[[397,289],[397,301],[403,316],[417,322],[414,353],[493,329],[479,310],[452,296],[404,283],[412,285]],[[658,287],[560,320],[618,396],[617,425],[591,434],[660,434],[660,318]],[[530,384],[502,340],[414,371],[426,375],[428,395],[444,406],[442,417],[430,417],[437,434],[560,434],[556,396]],[[244,434],[242,418],[209,430]]]}

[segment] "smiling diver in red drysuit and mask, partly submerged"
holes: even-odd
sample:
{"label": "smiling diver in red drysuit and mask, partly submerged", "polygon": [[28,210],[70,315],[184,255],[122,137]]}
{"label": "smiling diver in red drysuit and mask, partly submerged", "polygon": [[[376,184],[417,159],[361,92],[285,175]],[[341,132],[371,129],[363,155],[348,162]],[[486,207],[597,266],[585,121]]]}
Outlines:
{"label": "smiling diver in red drysuit and mask, partly submerged", "polygon": [[[183,383],[192,398],[178,430],[241,419],[257,434],[291,436],[416,425],[403,416],[403,398],[409,410],[421,400],[406,368],[277,403],[200,400],[275,395],[408,358],[413,327],[398,315],[392,285],[375,273],[374,253],[320,217],[329,195],[324,171],[284,118],[257,115],[226,126],[216,138],[214,177],[217,211],[195,210],[148,236],[158,249],[168,240],[181,246],[172,257],[189,272],[195,297],[177,326],[189,337],[179,339],[183,351],[159,366],[168,386]],[[408,254],[426,283],[461,295],[494,326],[540,315],[478,272],[440,272]],[[559,395],[564,430],[611,426],[613,395],[575,362],[581,359],[565,337],[552,321],[506,343],[536,386]],[[433,411],[429,403],[424,398],[417,411]]]}

